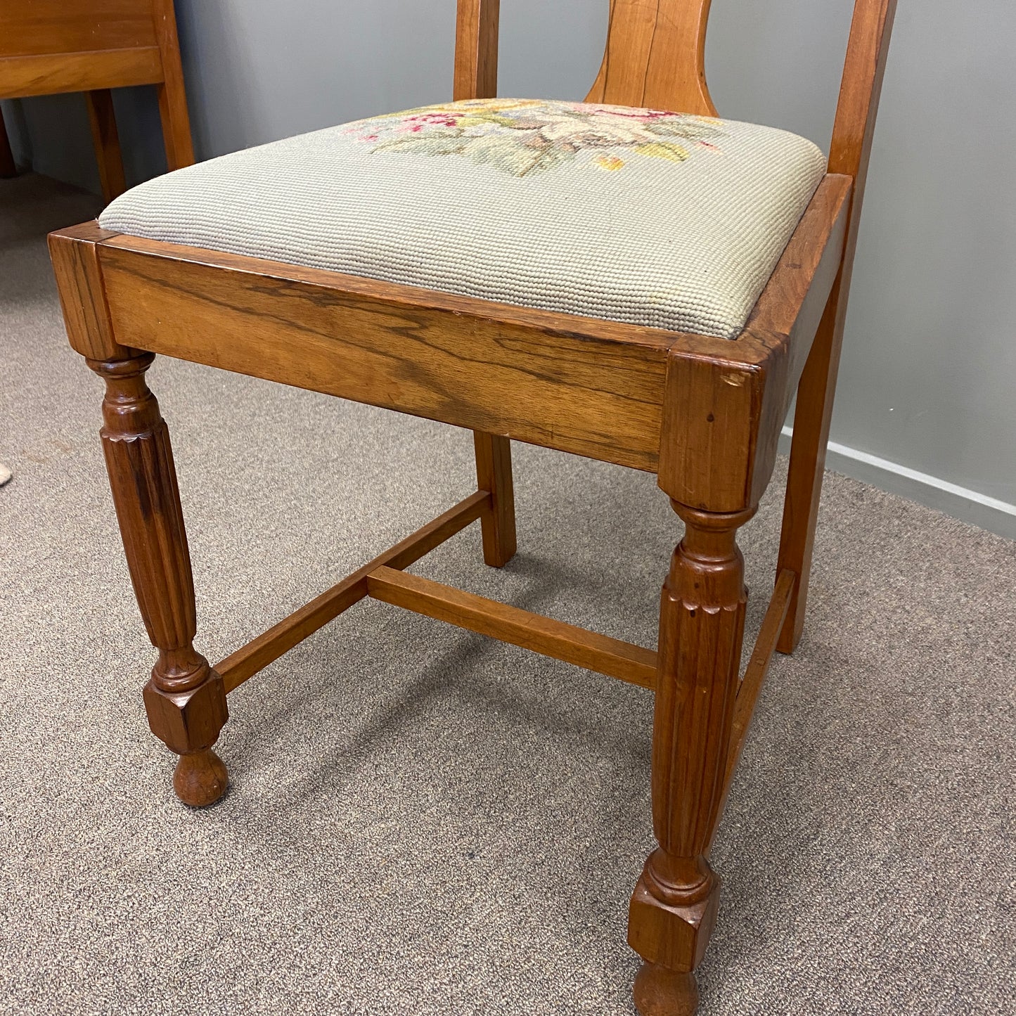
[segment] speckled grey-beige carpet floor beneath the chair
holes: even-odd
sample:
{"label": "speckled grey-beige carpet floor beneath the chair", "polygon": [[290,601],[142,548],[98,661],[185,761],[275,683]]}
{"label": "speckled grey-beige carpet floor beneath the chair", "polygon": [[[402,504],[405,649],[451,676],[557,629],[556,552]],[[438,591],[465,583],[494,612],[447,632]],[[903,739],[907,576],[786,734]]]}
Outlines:
{"label": "speckled grey-beige carpet floor beneath the chair", "polygon": [[[0,182],[0,1013],[631,1016],[640,689],[366,601],[231,696],[228,796],[174,797],[44,242],[97,210]],[[472,490],[464,432],[149,381],[212,660]],[[653,645],[680,537],[653,478],[521,445],[515,475],[507,568],[472,526],[416,570]],[[780,480],[743,534],[750,638]],[[702,1016],[1016,1012],[1016,544],[830,474],[815,557],[715,843]]]}

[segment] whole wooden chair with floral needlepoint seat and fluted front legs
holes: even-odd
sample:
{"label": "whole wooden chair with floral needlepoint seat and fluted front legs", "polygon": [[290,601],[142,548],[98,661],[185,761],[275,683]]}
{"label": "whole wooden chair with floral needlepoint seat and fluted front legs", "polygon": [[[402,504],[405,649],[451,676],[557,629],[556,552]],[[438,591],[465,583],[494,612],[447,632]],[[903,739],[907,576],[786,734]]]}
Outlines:
{"label": "whole wooden chair with floral needlepoint seat and fluted front legs", "polygon": [[[836,368],[894,0],[856,0],[828,160],[714,119],[709,0],[612,0],[585,104],[496,100],[497,0],[459,0],[455,102],[172,173],[53,234],[71,345],[106,382],[103,445],[158,649],[152,732],[189,805],[226,789],[227,695],[365,596],[655,692],[658,848],[628,940],[643,1016],[694,1012],[710,843],[769,659],[801,636]],[[214,666],[155,354],[474,432],[479,490]],[[798,393],[775,591],[741,677],[736,543]],[[656,474],[685,534],[656,651],[404,569],[479,519],[515,552],[510,440]],[[661,569],[662,570],[662,569]]]}

